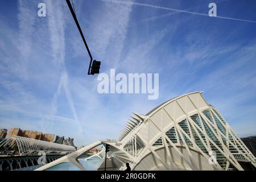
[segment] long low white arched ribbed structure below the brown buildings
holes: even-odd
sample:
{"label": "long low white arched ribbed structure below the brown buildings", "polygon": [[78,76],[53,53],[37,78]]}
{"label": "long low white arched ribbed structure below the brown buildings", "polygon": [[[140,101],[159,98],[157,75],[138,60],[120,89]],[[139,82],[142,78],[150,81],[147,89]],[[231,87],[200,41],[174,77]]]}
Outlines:
{"label": "long low white arched ribbed structure below the brown buildings", "polygon": [[13,152],[13,154],[18,153],[20,156],[28,154],[38,155],[39,151],[46,152],[46,155],[65,155],[73,151],[76,151],[76,148],[73,146],[66,146],[64,144],[46,142],[42,140],[36,140],[19,136],[11,136],[2,140],[2,142],[0,143],[0,147],[6,148],[8,152]]}

